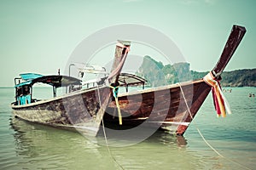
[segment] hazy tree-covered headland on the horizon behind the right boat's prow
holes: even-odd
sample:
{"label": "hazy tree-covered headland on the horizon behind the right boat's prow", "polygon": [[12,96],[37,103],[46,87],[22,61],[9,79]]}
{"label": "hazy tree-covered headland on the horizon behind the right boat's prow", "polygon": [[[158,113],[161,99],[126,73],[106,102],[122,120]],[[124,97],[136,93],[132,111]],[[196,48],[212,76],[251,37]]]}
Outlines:
{"label": "hazy tree-covered headland on the horizon behind the right boat's prow", "polygon": [[[152,74],[154,72],[154,74]],[[189,63],[176,63],[163,65],[162,62],[146,55],[137,75],[144,77],[152,87],[157,87],[176,82],[200,79],[209,71],[190,71]],[[223,87],[256,87],[256,69],[242,69],[236,71],[224,71],[221,75]]]}

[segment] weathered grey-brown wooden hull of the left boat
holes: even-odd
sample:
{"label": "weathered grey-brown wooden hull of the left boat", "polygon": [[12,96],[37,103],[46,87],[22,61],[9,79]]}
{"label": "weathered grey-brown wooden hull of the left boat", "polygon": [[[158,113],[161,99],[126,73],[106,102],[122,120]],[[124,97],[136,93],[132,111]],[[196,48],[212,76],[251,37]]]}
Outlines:
{"label": "weathered grey-brown wooden hull of the left boat", "polygon": [[[81,133],[95,136],[101,124],[101,116],[96,116],[104,94],[110,88],[79,90],[53,99],[41,100],[26,105],[14,105],[14,115],[28,122],[36,122],[53,127],[77,129]],[[102,94],[102,99],[99,95]]]}

